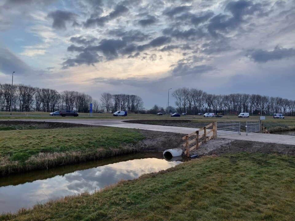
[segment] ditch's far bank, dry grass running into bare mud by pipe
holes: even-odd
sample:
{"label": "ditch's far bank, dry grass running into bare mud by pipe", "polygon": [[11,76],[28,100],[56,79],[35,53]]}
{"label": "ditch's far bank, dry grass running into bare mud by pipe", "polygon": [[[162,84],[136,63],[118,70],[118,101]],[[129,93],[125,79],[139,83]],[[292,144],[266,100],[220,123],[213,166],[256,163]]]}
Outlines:
{"label": "ditch's far bank, dry grass running into bare mud by pipe", "polygon": [[121,144],[121,146],[109,149],[97,148],[92,151],[65,151],[54,153],[39,153],[30,157],[24,163],[8,161],[0,156],[0,176],[11,173],[21,173],[36,169],[49,169],[61,165],[70,165],[89,160],[97,160],[105,157],[136,153],[140,151],[163,151],[170,148],[179,148],[183,143],[183,134],[170,132],[158,132],[151,130],[139,130],[145,137],[136,144]]}

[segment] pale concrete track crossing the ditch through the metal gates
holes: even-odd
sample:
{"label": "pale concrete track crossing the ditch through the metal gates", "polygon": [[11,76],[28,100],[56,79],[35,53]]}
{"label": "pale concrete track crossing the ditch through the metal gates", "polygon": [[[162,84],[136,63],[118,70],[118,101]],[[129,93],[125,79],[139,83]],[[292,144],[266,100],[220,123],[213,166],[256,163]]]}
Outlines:
{"label": "pale concrete track crossing the ditch through the metal gates", "polygon": [[[23,121],[23,120],[22,120]],[[97,119],[44,119],[35,120],[28,119],[26,121],[45,121],[45,122],[65,122],[65,123],[80,123],[94,126],[112,126],[112,127],[123,127],[123,128],[135,128],[142,130],[154,130],[162,132],[173,132],[179,134],[190,134],[198,130],[199,128],[189,128],[189,127],[175,127],[175,126],[160,126],[160,125],[148,125],[148,124],[135,124],[135,123],[125,123],[124,120],[97,120]],[[201,133],[200,133],[201,135]],[[230,134],[219,136],[221,138],[236,139],[236,140],[246,140],[246,141],[257,141],[266,143],[278,143],[278,144],[288,144],[295,145],[295,136],[281,135],[281,134],[259,134],[259,133],[241,133]]]}

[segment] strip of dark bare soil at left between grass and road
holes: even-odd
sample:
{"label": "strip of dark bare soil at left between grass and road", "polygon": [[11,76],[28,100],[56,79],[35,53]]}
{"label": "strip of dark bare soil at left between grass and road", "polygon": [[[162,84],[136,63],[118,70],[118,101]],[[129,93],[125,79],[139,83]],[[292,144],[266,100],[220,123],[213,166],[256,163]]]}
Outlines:
{"label": "strip of dark bare soil at left between grass and road", "polygon": [[0,120],[0,130],[34,130],[34,129],[57,129],[68,127],[89,127],[91,125],[45,121],[13,121]]}

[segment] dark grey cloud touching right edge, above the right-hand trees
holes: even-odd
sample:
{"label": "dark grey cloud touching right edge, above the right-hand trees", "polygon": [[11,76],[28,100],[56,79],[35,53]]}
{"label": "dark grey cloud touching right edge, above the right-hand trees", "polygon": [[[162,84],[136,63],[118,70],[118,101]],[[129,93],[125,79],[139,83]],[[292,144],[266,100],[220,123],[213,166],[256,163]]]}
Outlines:
{"label": "dark grey cloud touching right edge, above the right-hand trees", "polygon": [[258,63],[266,63],[271,60],[281,60],[295,56],[294,48],[280,48],[276,46],[273,51],[265,51],[262,49],[252,49],[248,51],[247,56]]}

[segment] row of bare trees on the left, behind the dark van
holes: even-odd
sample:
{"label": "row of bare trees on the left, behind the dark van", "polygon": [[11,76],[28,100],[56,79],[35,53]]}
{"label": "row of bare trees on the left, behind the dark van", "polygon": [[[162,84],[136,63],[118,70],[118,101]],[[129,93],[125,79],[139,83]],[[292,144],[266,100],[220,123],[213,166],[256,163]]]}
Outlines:
{"label": "row of bare trees on the left, behind the dark van", "polygon": [[125,111],[138,113],[143,109],[143,101],[137,95],[111,95],[103,93],[100,101],[90,95],[78,91],[62,91],[55,89],[32,87],[23,84],[0,84],[0,111],[44,111],[75,110],[89,112],[92,103],[92,112]]}

